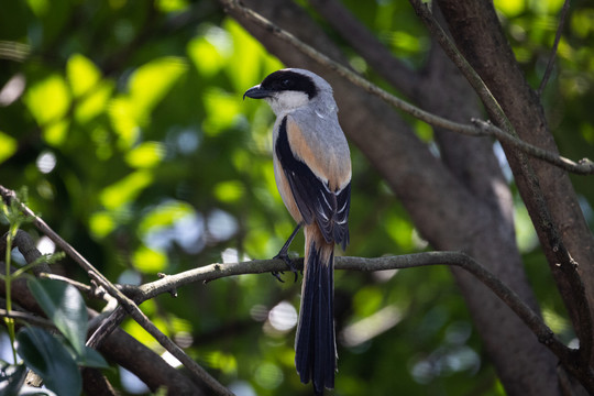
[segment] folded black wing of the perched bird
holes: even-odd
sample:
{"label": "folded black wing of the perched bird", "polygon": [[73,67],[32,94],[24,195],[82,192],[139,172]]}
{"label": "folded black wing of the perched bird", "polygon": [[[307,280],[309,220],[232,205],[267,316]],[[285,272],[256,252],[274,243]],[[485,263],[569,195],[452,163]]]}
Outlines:
{"label": "folded black wing of the perched bird", "polygon": [[295,157],[287,135],[287,117],[280,122],[274,150],[304,221],[308,224],[316,221],[326,241],[339,243],[344,250],[349,244],[351,184],[331,191],[307,164]]}

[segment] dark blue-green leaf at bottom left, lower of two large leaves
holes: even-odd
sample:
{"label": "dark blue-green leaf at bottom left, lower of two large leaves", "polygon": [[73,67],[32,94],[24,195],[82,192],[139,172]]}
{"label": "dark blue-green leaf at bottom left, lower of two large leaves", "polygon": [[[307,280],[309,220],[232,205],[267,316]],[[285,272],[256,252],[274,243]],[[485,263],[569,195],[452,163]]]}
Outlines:
{"label": "dark blue-green leaf at bottom left, lower of two large leaves", "polygon": [[25,364],[37,373],[45,386],[61,396],[78,396],[82,380],[66,348],[40,328],[24,328],[16,336],[16,351]]}

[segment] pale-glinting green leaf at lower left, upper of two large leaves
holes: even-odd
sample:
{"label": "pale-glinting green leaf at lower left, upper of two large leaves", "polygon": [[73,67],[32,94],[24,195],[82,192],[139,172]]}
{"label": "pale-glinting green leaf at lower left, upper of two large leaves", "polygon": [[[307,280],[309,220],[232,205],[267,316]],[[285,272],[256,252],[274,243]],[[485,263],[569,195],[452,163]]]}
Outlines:
{"label": "pale-glinting green leaf at lower left, upper of two large leaves", "polygon": [[78,355],[85,353],[87,307],[73,285],[53,279],[29,279],[29,288]]}

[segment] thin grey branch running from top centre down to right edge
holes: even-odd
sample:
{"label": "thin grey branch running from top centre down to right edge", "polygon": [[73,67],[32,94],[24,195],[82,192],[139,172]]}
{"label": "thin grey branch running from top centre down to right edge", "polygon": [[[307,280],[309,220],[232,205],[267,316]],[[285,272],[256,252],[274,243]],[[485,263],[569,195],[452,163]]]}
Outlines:
{"label": "thin grey branch running from top centre down to right edge", "polygon": [[[361,77],[360,75],[353,73],[349,68],[342,66],[341,64],[332,61],[328,56],[321,54],[320,52],[316,51],[311,46],[307,45],[306,43],[301,42],[299,38],[295,37],[293,34],[282,30],[277,25],[275,25],[270,20],[265,19],[257,12],[244,7],[239,0],[221,0],[221,2],[228,8],[229,10],[232,10],[234,12],[240,13],[248,20],[250,20],[253,23],[256,23],[257,25],[264,28],[266,31],[268,31],[271,34],[275,35],[276,37],[283,40],[284,42],[293,45],[295,48],[304,53],[306,56],[310,57],[315,62],[319,63],[320,65],[336,72],[339,76],[346,79],[349,82],[364,89],[371,95],[380,97],[382,100],[387,102],[388,105],[421,120],[427,122],[430,125],[437,127],[437,128],[443,128],[453,132],[462,133],[465,135],[471,136],[484,136],[485,132],[481,130],[480,128],[476,128],[474,125],[470,124],[462,124],[459,122],[453,122],[451,120],[444,119],[442,117],[436,116],[433,113],[430,113],[428,111],[425,111],[403,99],[399,99],[395,97],[394,95],[383,90],[382,88],[375,86],[374,84],[367,81],[365,78]],[[481,94],[481,92],[479,92]],[[483,92],[487,94],[487,92]],[[490,95],[490,92],[488,92]],[[498,123],[498,120],[496,120]],[[492,131],[490,132],[492,133]],[[502,131],[502,133],[505,133]],[[512,136],[508,139],[509,144],[513,144],[518,150],[525,150],[527,146],[531,146],[531,153],[532,155],[537,155],[537,158],[550,162],[549,160],[551,156],[559,155],[554,153],[543,153],[544,150],[532,146],[529,143],[526,143],[521,141],[517,136]],[[522,142],[522,143],[519,143]],[[563,169],[568,172],[572,172],[579,175],[593,175],[594,174],[594,162],[584,158],[580,161],[580,163],[575,163],[571,160],[566,160],[563,157],[560,157],[560,160],[556,160],[556,163],[552,165],[559,166],[560,163],[563,163]]]}

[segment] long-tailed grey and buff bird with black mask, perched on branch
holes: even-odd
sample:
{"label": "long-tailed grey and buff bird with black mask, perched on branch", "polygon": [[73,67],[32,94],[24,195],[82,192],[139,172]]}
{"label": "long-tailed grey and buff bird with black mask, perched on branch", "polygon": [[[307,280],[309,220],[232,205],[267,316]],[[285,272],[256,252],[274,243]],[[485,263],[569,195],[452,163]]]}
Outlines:
{"label": "long-tailed grey and buff bird with black mask, perched on branch", "polygon": [[[304,280],[295,366],[316,395],[334,388],[334,245],[349,244],[351,154],[339,124],[332,87],[317,74],[286,68],[243,95],[264,99],[276,116],[273,164],[278,193],[297,227],[275,257],[295,272],[288,248],[304,229]],[[273,273],[273,275],[275,275]],[[276,274],[277,275],[277,274]]]}

